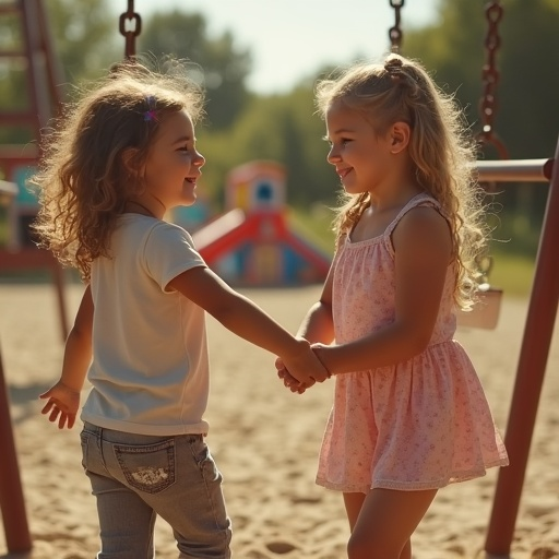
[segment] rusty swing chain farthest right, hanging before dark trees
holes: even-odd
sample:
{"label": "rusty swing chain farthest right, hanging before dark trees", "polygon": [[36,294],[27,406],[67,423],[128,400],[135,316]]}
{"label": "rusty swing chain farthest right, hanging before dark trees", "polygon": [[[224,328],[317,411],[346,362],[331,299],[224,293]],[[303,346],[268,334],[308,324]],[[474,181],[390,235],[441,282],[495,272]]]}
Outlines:
{"label": "rusty swing chain farthest right, hanging before dark trees", "polygon": [[497,150],[502,159],[508,159],[508,151],[501,140],[495,133],[493,124],[497,115],[497,85],[499,83],[499,70],[497,69],[497,53],[501,46],[499,35],[499,23],[503,15],[503,8],[499,0],[486,3],[486,20],[488,24],[485,47],[487,60],[481,70],[481,80],[484,83],[484,94],[479,102],[479,112],[481,116],[481,132],[478,140],[481,144],[491,144]]}

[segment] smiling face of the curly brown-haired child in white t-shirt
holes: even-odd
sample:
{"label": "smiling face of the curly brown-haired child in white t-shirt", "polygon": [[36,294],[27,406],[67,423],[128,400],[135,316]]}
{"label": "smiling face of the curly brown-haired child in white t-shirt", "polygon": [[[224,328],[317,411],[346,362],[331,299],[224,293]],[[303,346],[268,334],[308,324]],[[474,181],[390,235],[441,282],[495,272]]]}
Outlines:
{"label": "smiling face of the curly brown-haired child in white t-shirt", "polygon": [[194,126],[186,110],[167,115],[147,151],[144,181],[166,210],[192,205],[205,159],[195,147]]}

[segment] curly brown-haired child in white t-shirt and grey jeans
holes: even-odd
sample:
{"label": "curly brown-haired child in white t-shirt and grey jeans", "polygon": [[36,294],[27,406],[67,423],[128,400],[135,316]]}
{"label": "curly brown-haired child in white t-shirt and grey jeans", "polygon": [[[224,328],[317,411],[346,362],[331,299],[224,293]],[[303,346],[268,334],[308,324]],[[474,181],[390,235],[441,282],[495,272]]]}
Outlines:
{"label": "curly brown-haired child in white t-shirt and grey jeans", "polygon": [[202,97],[178,70],[117,69],[64,116],[35,177],[43,243],[87,284],[60,380],[40,397],[49,420],[70,428],[86,374],[92,383],[81,445],[99,557],[151,559],[157,515],[171,525],[181,558],[230,557],[203,417],[204,311],[282,355],[300,381],[329,377],[307,341],[226,285],[190,235],[164,221],[195,202],[205,164],[194,134]]}

